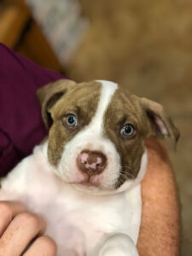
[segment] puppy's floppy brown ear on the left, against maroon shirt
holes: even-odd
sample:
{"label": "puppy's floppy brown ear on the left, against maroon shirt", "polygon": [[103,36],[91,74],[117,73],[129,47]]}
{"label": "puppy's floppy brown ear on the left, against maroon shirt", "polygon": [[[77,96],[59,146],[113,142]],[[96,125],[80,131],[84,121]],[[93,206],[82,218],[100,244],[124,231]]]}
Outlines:
{"label": "puppy's floppy brown ear on the left, against maroon shirt", "polygon": [[38,102],[41,105],[41,113],[44,125],[49,129],[51,125],[50,109],[59,101],[67,90],[73,88],[77,84],[71,80],[61,79],[54,83],[46,84],[37,90]]}

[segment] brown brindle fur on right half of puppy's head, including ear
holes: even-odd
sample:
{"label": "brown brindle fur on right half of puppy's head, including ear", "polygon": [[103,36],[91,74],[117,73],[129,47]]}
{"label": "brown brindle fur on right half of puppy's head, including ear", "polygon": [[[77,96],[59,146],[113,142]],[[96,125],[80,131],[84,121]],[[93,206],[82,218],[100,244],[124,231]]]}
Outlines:
{"label": "brown brindle fur on right half of puppy's head, including ear", "polygon": [[[114,143],[121,156],[122,168],[117,187],[126,179],[137,177],[144,152],[144,139],[149,136],[165,137],[155,119],[151,118],[152,116],[158,116],[163,121],[167,129],[167,136],[175,138],[177,142],[179,132],[172,124],[172,120],[166,116],[160,104],[146,98],[139,98],[120,89],[115,91],[112,102],[105,113],[104,127],[106,136]],[[135,137],[120,136],[120,130],[128,123],[135,127]]]}

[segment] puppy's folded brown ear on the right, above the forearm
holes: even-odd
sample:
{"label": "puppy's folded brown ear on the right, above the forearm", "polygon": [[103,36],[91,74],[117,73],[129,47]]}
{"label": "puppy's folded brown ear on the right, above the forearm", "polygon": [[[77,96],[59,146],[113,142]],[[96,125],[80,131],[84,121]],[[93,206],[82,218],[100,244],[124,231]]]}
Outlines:
{"label": "puppy's folded brown ear on the right, above the forearm", "polygon": [[141,98],[141,104],[147,114],[150,124],[150,136],[164,138],[172,137],[177,143],[180,136],[179,131],[173,125],[164,108],[157,102],[150,101],[146,98]]}

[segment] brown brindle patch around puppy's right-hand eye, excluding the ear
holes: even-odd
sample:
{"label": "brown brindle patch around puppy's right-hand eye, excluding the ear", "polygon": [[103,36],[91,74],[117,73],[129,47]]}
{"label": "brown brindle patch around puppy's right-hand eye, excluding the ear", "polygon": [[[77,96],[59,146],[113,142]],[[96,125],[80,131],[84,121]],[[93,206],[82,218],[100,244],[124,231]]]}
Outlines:
{"label": "brown brindle patch around puppy's right-hand eye, excluding the ear", "polygon": [[[144,152],[143,139],[148,134],[148,125],[144,125],[146,117],[138,101],[132,99],[131,94],[116,90],[112,102],[105,113],[105,136],[115,145],[121,156],[121,173],[116,184],[119,187],[128,178],[137,177],[140,169],[141,157]],[[136,137],[128,138],[120,135],[125,124],[131,123],[137,131]]]}

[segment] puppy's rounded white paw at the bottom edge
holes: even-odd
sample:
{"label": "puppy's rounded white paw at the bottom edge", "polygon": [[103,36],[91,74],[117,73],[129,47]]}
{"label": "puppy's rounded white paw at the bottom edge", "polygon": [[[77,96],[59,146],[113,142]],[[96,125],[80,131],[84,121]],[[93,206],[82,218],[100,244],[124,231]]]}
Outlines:
{"label": "puppy's rounded white paw at the bottom edge", "polygon": [[97,253],[98,256],[138,256],[137,248],[129,236],[115,234],[108,237]]}

